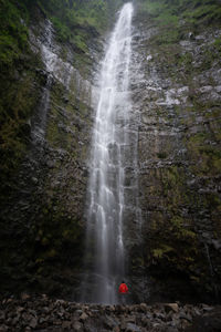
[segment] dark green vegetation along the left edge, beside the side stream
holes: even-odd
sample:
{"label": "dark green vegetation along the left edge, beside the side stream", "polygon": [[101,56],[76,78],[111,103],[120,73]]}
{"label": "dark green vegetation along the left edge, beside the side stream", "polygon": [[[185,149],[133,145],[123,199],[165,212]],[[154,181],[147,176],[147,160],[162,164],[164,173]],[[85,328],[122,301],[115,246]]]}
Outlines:
{"label": "dark green vegetation along the left edge, beside the side stream", "polygon": [[[0,181],[1,186],[18,167],[28,143],[28,123],[36,106],[41,65],[28,44],[29,12],[24,4],[0,0]],[[40,83],[41,84],[41,83]]]}

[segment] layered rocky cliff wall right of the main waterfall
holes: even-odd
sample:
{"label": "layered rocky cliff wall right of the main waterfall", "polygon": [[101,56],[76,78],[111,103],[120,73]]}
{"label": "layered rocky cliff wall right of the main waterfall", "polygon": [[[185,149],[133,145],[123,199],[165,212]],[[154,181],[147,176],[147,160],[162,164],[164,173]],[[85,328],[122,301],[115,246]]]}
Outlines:
{"label": "layered rocky cliff wall right of the main waterfall", "polygon": [[159,14],[144,10],[134,20],[131,64],[143,221],[129,274],[143,288],[139,300],[214,300],[221,277],[221,30],[215,20],[189,23],[182,11],[176,24],[165,18],[160,27]]}

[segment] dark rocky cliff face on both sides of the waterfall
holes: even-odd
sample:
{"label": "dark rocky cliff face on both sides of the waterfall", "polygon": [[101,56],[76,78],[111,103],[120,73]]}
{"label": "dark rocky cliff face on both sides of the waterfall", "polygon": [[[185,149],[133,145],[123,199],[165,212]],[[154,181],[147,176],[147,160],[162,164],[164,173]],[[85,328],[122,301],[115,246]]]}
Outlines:
{"label": "dark rocky cliff face on both sides of the waterfall", "polygon": [[[220,297],[221,284],[221,29],[219,17],[212,17],[219,10],[208,14],[201,4],[188,9],[188,1],[181,7],[159,1],[158,12],[152,3],[135,1],[125,184],[128,278],[136,301],[206,301]],[[165,6],[176,19],[168,21]],[[11,58],[0,53],[0,281],[3,293],[72,298],[83,271],[93,103],[105,29],[78,21],[74,39],[61,18],[49,20],[43,9],[30,9],[29,23],[22,9],[21,17],[13,12],[19,51]],[[194,11],[199,20],[189,20]],[[10,28],[8,37],[14,31]],[[6,46],[6,38],[0,41]],[[7,43],[9,50],[10,39]]]}

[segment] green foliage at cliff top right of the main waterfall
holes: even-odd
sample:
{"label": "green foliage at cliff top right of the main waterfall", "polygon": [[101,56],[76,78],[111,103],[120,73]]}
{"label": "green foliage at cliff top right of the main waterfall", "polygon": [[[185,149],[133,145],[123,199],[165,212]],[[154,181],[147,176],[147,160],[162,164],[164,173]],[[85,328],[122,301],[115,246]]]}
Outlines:
{"label": "green foliage at cliff top right of the main waterfall", "polygon": [[208,25],[220,25],[221,8],[218,0],[138,0],[143,15],[160,29],[158,44],[178,42],[186,30],[197,31]]}

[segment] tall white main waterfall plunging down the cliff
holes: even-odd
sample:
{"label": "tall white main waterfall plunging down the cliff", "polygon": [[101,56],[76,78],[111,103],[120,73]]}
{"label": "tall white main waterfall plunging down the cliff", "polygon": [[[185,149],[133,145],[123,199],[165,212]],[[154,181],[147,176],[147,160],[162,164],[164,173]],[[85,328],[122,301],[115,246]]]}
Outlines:
{"label": "tall white main waterfall plunging down the cliff", "polygon": [[[126,3],[110,37],[99,76],[88,184],[84,301],[116,303],[125,277],[124,179],[129,123],[133,6]],[[86,286],[90,289],[86,289]]]}

